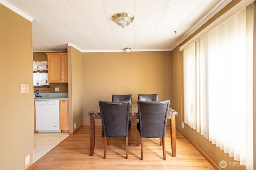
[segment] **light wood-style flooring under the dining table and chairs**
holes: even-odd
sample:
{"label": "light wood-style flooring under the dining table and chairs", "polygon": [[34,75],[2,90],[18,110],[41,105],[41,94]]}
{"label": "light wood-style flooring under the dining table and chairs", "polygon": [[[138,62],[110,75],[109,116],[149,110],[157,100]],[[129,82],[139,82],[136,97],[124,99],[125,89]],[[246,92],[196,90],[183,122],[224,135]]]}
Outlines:
{"label": "light wood-style flooring under the dining table and chairs", "polygon": [[215,170],[178,131],[177,157],[172,157],[170,125],[166,128],[166,160],[163,160],[159,139],[146,138],[143,140],[143,160],[140,160],[136,133],[136,126],[132,126],[132,145],[128,145],[128,159],[125,154],[125,138],[110,138],[107,157],[103,159],[104,138],[101,136],[101,126],[95,126],[93,156],[89,153],[89,126],[84,126],[35,162],[33,170]]}

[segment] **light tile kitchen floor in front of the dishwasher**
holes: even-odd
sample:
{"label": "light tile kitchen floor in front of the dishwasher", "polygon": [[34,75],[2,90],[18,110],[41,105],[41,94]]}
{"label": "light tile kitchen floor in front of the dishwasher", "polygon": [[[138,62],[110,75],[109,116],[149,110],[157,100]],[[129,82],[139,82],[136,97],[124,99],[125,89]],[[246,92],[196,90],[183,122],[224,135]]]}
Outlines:
{"label": "light tile kitchen floor in front of the dishwasher", "polygon": [[34,133],[34,162],[68,137],[68,132]]}

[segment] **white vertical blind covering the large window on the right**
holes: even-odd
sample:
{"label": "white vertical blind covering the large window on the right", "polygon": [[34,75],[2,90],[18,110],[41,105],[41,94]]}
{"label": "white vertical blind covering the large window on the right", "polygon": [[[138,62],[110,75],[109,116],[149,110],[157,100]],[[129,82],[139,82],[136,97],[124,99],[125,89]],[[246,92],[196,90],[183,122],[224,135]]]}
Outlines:
{"label": "white vertical blind covering the large window on the right", "polygon": [[253,170],[253,6],[184,49],[184,123]]}

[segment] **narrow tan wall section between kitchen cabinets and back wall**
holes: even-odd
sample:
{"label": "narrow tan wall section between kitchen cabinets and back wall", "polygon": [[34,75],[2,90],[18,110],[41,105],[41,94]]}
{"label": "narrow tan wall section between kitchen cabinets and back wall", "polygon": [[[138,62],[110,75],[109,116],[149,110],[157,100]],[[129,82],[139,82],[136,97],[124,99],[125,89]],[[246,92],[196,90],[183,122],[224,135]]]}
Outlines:
{"label": "narrow tan wall section between kitchen cabinets and back wall", "polygon": [[[68,46],[69,132],[83,125],[83,65],[82,53]],[[74,128],[76,123],[76,128]]]}

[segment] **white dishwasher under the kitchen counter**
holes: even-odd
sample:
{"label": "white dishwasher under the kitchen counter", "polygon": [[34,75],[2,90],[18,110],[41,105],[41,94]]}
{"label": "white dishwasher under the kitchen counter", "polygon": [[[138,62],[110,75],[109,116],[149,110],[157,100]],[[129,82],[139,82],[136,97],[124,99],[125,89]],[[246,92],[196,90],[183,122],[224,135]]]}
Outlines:
{"label": "white dishwasher under the kitchen counter", "polygon": [[38,100],[36,107],[36,130],[40,132],[61,132],[59,100]]}

